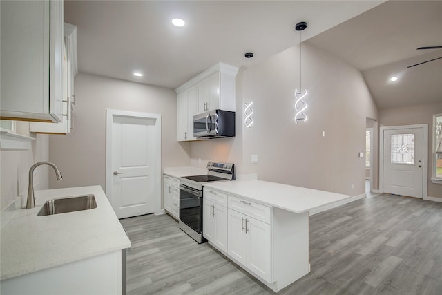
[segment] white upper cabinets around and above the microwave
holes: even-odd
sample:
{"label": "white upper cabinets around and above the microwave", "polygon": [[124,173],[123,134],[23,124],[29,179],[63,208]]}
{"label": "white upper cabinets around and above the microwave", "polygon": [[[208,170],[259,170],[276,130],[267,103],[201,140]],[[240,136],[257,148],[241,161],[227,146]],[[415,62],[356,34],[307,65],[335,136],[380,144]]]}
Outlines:
{"label": "white upper cabinets around and above the microwave", "polygon": [[179,142],[198,140],[193,136],[194,115],[216,109],[235,111],[237,73],[238,68],[219,63],[175,89]]}

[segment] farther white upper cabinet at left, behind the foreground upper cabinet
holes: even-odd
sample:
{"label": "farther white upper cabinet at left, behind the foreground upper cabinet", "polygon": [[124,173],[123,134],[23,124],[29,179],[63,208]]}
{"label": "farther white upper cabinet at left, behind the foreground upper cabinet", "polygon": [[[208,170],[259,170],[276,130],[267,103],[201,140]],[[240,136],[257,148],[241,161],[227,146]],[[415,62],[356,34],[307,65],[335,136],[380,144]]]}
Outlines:
{"label": "farther white upper cabinet at left, behind the foreground upper cabinet", "polygon": [[73,130],[74,76],[77,73],[77,26],[64,23],[63,79],[61,80],[63,119],[59,123],[30,122],[29,131],[67,134]]}

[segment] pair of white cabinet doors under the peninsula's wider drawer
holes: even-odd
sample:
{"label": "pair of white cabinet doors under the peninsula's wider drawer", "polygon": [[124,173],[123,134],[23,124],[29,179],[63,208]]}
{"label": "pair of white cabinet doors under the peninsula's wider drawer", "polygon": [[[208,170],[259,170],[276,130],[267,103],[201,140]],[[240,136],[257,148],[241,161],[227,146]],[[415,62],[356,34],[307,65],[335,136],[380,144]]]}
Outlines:
{"label": "pair of white cabinet doors under the peninsula's wider drawer", "polygon": [[271,283],[271,227],[233,209],[228,210],[229,256]]}

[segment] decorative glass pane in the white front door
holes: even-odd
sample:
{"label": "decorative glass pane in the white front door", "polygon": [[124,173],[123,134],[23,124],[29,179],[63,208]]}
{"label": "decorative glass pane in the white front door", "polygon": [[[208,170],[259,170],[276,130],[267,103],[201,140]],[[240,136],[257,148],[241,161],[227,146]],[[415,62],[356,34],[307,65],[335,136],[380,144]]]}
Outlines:
{"label": "decorative glass pane in the white front door", "polygon": [[392,164],[414,164],[414,134],[392,134],[391,143]]}

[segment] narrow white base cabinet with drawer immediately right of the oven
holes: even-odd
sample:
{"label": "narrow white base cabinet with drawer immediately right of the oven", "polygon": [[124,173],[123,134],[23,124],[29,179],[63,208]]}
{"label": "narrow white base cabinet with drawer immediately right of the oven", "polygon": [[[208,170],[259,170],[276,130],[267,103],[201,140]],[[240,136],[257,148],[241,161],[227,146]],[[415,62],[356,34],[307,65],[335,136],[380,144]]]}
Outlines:
{"label": "narrow white base cabinet with drawer immediately right of the oven", "polygon": [[203,196],[202,234],[227,254],[227,195],[204,190]]}

